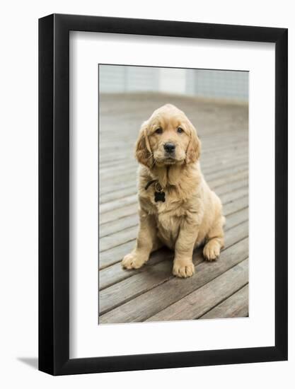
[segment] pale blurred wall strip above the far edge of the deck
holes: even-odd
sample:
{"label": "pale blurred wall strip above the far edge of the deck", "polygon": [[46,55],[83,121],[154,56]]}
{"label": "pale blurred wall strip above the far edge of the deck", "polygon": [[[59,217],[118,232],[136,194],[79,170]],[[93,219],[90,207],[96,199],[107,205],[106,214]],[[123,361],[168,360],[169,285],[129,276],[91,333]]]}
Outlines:
{"label": "pale blurred wall strip above the far edge of the deck", "polygon": [[248,71],[100,65],[100,92],[160,92],[248,100]]}

